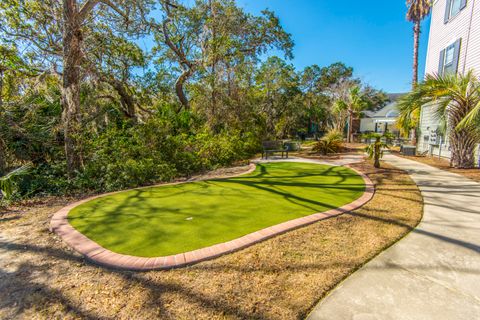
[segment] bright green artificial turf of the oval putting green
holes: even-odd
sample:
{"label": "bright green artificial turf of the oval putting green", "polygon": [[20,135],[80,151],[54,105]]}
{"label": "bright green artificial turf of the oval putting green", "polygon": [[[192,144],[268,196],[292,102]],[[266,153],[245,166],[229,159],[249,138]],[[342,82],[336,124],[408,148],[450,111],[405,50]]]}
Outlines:
{"label": "bright green artificial turf of the oval putting green", "polygon": [[353,170],[312,163],[257,165],[248,175],[136,189],[73,209],[74,228],[117,253],[183,253],[358,199]]}

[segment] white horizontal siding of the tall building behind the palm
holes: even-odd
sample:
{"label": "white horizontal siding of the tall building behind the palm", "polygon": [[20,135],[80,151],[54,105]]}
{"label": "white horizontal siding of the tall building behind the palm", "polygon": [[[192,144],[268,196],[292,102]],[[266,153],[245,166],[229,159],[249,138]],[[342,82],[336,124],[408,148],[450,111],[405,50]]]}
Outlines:
{"label": "white horizontal siding of the tall building behind the palm", "polygon": [[[437,73],[440,52],[458,39],[462,39],[458,73],[472,69],[480,76],[480,0],[467,0],[467,6],[447,23],[445,23],[446,4],[447,0],[436,0],[433,4],[425,74]],[[450,158],[448,141],[444,141],[441,148],[430,141],[432,130],[439,126],[438,122],[431,106],[422,107],[418,152],[439,155],[441,149],[440,155]],[[425,140],[427,137],[428,141]]]}

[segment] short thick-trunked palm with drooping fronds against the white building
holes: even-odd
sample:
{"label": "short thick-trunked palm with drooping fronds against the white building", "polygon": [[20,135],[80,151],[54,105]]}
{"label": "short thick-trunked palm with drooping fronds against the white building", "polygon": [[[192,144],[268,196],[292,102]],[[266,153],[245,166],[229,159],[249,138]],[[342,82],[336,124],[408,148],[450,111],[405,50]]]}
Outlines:
{"label": "short thick-trunked palm with drooping fronds against the white building", "polygon": [[473,71],[465,75],[427,75],[423,83],[400,100],[400,116],[411,118],[426,104],[446,124],[452,151],[450,165],[473,168],[475,147],[480,142],[480,80]]}

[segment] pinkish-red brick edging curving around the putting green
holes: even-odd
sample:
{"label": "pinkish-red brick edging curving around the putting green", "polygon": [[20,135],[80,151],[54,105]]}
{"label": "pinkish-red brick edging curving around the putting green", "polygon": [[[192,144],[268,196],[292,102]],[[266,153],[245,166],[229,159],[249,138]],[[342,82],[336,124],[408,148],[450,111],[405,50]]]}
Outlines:
{"label": "pinkish-red brick edging curving around the putting green", "polygon": [[[108,249],[103,248],[96,242],[90,240],[82,233],[74,229],[69,223],[67,215],[73,208],[88,202],[90,200],[104,197],[106,195],[114,194],[108,193],[100,196],[90,197],[78,202],[75,202],[71,205],[68,205],[53,215],[53,218],[50,222],[50,230],[58,234],[63,241],[70,245],[73,249],[85,256],[86,259],[106,267],[124,269],[124,270],[135,270],[135,271],[147,271],[147,270],[159,270],[159,269],[172,269],[191,265],[208,259],[213,259],[221,255],[231,253],[240,249],[244,249],[248,246],[251,246],[260,241],[272,238],[276,235],[285,233],[287,231],[304,227],[306,225],[312,224],[314,222],[328,219],[341,215],[345,212],[349,212],[359,207],[363,206],[365,203],[370,201],[375,193],[375,186],[365,174],[362,172],[350,167],[358,173],[365,182],[365,192],[357,200],[344,205],[340,208],[331,209],[321,213],[315,213],[309,216],[302,218],[290,220],[271,226],[253,233],[250,233],[246,236],[240,237],[235,240],[228,242],[216,244],[210,247],[189,251],[185,253],[180,253],[172,256],[166,257],[157,257],[157,258],[143,258],[135,257],[129,255],[123,255],[115,253]],[[247,174],[255,170],[255,165],[251,164],[250,169],[247,172],[242,174]],[[183,182],[181,182],[183,183]]]}

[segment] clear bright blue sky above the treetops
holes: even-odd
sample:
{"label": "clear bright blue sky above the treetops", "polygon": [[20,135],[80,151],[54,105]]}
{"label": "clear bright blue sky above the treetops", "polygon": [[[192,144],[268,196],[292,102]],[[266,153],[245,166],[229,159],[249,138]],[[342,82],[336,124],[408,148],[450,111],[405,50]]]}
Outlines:
{"label": "clear bright blue sky above the treetops", "polygon": [[[411,83],[412,24],[405,0],[237,0],[252,13],[269,8],[295,42],[297,69],[342,61],[356,76],[387,92],[406,92]],[[429,21],[423,24],[420,77],[425,69]]]}

